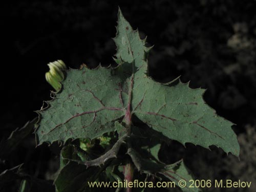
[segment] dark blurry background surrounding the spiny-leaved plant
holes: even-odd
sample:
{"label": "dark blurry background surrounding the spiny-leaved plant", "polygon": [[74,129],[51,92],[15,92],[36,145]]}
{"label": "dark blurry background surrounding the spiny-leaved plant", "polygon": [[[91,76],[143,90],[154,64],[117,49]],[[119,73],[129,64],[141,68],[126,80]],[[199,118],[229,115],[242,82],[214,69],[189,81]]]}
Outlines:
{"label": "dark blurry background surrounding the spiny-leaved plant", "polygon": [[[237,124],[233,130],[241,144],[240,161],[217,147],[210,152],[177,143],[178,155],[171,157],[184,158],[198,178],[242,179],[254,181],[255,187],[256,1],[252,0],[6,1],[1,6],[0,139],[36,117],[34,111],[50,99],[47,63],[62,59],[71,68],[114,63],[111,37],[116,33],[118,5],[141,37],[147,36],[148,45],[154,45],[148,58],[150,75],[161,82],[182,75],[183,82],[191,80],[191,88],[207,89],[206,102]],[[49,179],[56,170],[56,156],[47,145],[35,149],[31,135],[2,169],[25,162],[25,172]]]}

